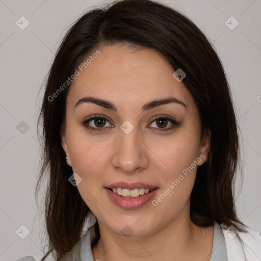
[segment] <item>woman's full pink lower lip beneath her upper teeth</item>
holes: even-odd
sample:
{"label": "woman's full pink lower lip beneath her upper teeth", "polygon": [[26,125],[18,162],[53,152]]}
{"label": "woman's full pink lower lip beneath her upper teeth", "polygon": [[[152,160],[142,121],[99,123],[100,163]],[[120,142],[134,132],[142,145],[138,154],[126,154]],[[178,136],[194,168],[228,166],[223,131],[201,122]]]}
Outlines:
{"label": "woman's full pink lower lip beneath her upper teeth", "polygon": [[109,198],[115,205],[127,210],[132,210],[144,206],[154,197],[155,193],[159,190],[159,188],[156,188],[153,189],[150,193],[145,193],[139,197],[126,198],[119,196],[117,193],[114,193],[108,188],[105,189],[109,195]]}

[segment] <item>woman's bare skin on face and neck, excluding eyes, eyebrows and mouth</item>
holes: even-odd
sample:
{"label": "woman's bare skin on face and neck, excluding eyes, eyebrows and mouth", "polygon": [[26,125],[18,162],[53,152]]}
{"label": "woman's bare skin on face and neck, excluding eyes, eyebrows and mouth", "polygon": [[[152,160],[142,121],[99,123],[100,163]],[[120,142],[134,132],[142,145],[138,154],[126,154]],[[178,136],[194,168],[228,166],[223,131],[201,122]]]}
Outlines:
{"label": "woman's bare skin on face and neck, excluding eyes, eyebrows and mouth", "polygon": [[[207,158],[209,137],[204,135],[200,140],[200,117],[193,97],[155,51],[123,46],[99,50],[100,55],[70,87],[62,136],[67,164],[82,178],[77,188],[99,224],[101,237],[92,249],[94,260],[209,260],[214,229],[198,227],[190,219],[197,167],[157,206],[148,202],[125,210],[116,206],[103,188],[118,181],[140,181],[158,187],[157,198],[200,155]],[[118,111],[90,102],[73,108],[85,96],[109,100]],[[142,112],[145,103],[169,96],[187,107],[168,103]],[[93,115],[109,119],[104,131],[90,131],[82,124]],[[158,115],[180,124],[161,131],[162,126],[153,121]],[[126,120],[134,126],[129,134],[120,128]],[[168,121],[163,128],[171,125]],[[89,126],[99,125],[92,120]],[[121,232],[125,226],[132,229],[130,237]]]}

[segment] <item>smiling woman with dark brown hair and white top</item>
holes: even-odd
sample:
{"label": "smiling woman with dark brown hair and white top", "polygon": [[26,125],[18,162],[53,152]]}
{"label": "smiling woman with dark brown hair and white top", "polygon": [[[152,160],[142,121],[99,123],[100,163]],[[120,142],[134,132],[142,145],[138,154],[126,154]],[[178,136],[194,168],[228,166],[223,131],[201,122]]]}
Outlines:
{"label": "smiling woman with dark brown hair and white top", "polygon": [[149,0],[84,14],[51,66],[41,119],[41,260],[261,258],[260,235],[234,206],[239,136],[225,73],[184,15]]}

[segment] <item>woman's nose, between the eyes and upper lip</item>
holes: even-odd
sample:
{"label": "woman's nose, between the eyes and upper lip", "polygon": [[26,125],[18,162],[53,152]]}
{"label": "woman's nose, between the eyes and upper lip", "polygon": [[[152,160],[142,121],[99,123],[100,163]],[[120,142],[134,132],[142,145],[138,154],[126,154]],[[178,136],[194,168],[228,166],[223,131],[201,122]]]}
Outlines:
{"label": "woman's nose, between the eyes and upper lip", "polygon": [[111,161],[114,168],[126,174],[134,174],[148,167],[149,148],[142,136],[141,133],[138,133],[137,127],[134,127],[129,133],[120,129]]}

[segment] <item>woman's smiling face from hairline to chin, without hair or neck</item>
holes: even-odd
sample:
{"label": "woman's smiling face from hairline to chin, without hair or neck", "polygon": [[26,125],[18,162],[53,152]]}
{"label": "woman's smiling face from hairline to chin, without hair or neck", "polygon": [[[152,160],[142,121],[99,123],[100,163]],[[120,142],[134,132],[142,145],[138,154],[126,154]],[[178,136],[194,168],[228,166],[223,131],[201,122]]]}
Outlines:
{"label": "woman's smiling face from hairline to chin, without hair or neck", "polygon": [[99,50],[70,87],[62,146],[99,226],[148,236],[189,219],[208,138],[200,140],[196,104],[164,58],[150,49]]}

